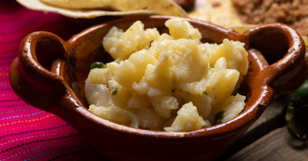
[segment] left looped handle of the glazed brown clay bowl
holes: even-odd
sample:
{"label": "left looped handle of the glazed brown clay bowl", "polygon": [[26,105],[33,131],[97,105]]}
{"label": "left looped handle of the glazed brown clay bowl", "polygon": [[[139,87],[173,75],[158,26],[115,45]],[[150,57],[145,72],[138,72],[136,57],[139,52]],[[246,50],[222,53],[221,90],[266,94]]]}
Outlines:
{"label": "left looped handle of the glazed brown clay bowl", "polygon": [[66,93],[66,87],[63,77],[50,71],[51,65],[66,55],[65,41],[55,34],[39,31],[27,35],[10,69],[14,92],[27,104],[54,112],[53,107]]}

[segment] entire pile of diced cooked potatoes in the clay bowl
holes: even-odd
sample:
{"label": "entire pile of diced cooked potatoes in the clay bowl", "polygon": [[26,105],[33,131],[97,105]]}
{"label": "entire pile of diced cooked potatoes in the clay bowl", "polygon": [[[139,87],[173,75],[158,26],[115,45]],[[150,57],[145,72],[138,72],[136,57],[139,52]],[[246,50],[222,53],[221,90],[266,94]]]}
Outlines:
{"label": "entire pile of diced cooked potatoes in the clay bowl", "polygon": [[137,21],[125,32],[112,27],[103,38],[115,61],[92,69],[85,84],[89,111],[135,128],[192,131],[222,122],[245,106],[239,87],[248,54],[239,41],[202,43],[201,33],[181,18],[166,21],[171,35],[144,30]]}

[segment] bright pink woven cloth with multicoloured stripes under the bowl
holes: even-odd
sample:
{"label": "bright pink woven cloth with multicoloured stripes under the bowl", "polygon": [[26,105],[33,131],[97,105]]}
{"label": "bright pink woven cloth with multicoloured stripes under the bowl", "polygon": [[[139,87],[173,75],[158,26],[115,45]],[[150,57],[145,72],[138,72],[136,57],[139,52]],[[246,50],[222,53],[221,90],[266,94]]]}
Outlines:
{"label": "bright pink woven cloth with multicoloured stripes under the bowl", "polygon": [[0,1],[0,161],[105,159],[74,128],[51,113],[25,104],[10,87],[10,64],[23,37],[34,31],[49,31],[67,40],[83,29],[62,15]]}

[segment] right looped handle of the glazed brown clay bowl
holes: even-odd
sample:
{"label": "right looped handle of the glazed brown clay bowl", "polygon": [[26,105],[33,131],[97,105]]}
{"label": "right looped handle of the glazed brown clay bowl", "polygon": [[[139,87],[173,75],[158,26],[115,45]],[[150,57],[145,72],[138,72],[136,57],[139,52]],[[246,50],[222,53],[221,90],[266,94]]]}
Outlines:
{"label": "right looped handle of the glazed brown clay bowl", "polygon": [[294,92],[306,80],[305,43],[290,26],[282,23],[258,26],[243,33],[241,41],[248,52],[260,51],[269,63],[252,78],[252,91],[259,91],[257,88],[266,84],[274,96],[279,96]]}

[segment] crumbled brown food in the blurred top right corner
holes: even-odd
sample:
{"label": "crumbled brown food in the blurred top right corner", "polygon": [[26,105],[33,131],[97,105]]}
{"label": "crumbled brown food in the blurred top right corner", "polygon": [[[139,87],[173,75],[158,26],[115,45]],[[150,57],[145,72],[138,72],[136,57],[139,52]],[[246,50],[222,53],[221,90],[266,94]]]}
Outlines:
{"label": "crumbled brown food in the blurred top right corner", "polygon": [[308,0],[232,0],[243,22],[282,22],[308,36]]}

